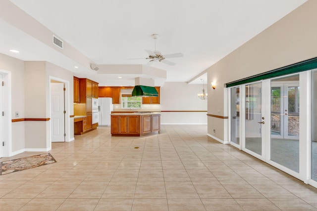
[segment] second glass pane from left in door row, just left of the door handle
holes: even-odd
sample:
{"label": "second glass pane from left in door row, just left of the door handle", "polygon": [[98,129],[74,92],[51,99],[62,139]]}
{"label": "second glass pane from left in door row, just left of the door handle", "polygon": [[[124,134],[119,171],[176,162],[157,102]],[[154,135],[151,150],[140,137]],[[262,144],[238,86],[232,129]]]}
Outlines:
{"label": "second glass pane from left in door row, just left of the door handle", "polygon": [[245,86],[245,148],[262,155],[262,83]]}

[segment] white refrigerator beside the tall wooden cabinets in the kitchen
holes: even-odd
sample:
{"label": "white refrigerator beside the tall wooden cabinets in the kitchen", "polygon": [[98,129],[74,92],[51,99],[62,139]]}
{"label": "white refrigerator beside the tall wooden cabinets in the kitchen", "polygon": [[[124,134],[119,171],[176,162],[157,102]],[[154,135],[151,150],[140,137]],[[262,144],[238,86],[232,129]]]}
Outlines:
{"label": "white refrigerator beside the tall wooden cabinets in the kitchen", "polygon": [[112,98],[99,97],[98,98],[98,110],[99,110],[99,126],[110,126],[110,114],[113,111]]}

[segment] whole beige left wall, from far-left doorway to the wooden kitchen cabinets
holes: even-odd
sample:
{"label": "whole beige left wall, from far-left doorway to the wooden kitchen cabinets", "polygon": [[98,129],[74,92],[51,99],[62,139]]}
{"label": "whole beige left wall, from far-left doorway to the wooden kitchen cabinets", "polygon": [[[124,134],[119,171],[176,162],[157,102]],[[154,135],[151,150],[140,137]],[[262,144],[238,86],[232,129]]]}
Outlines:
{"label": "whole beige left wall, from far-left doorway to the wooden kitchen cabinets", "polygon": [[[11,122],[11,119],[50,118],[50,77],[69,84],[68,92],[68,140],[74,138],[73,118],[73,74],[45,61],[21,61],[0,54],[0,72],[11,75],[11,100],[4,96],[4,104],[9,105],[10,116],[4,124],[6,140],[11,139],[10,147],[5,148],[4,156],[11,156],[24,150],[47,150],[51,147],[49,121]],[[6,87],[5,87],[6,88]],[[5,91],[6,92],[6,91]],[[11,101],[11,102],[9,102]],[[15,117],[19,112],[19,117]]]}

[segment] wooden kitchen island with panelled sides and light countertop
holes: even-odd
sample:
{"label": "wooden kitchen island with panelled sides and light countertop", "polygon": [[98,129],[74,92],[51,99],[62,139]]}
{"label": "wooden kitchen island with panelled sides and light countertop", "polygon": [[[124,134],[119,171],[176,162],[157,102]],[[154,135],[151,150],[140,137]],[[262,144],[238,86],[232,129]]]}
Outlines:
{"label": "wooden kitchen island with panelled sides and light countertop", "polygon": [[111,114],[112,136],[142,136],[159,133],[159,112]]}

